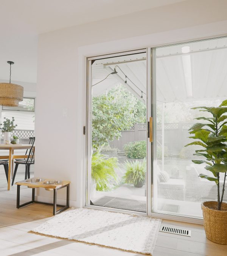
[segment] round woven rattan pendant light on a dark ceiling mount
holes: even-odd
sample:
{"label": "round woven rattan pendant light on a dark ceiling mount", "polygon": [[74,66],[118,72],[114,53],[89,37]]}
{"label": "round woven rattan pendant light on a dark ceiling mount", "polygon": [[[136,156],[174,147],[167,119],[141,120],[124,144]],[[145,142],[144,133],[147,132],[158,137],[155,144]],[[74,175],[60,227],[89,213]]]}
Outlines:
{"label": "round woven rattan pendant light on a dark ceiling mount", "polygon": [[11,65],[13,61],[7,61],[10,65],[9,83],[0,83],[0,105],[7,107],[17,107],[19,101],[23,101],[23,87],[11,83]]}

